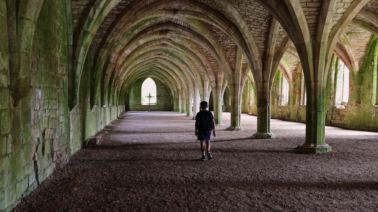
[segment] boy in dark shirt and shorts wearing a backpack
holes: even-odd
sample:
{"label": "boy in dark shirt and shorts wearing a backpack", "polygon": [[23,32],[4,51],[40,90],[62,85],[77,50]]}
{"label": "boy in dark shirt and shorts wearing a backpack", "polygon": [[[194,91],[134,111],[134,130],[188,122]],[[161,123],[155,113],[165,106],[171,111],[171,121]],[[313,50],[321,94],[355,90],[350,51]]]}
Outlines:
{"label": "boy in dark shirt and shorts wearing a backpack", "polygon": [[197,140],[201,141],[201,152],[202,157],[200,160],[206,160],[205,157],[205,141],[206,141],[206,148],[208,152],[208,159],[211,160],[211,153],[210,153],[210,136],[211,136],[211,129],[214,129],[213,135],[215,137],[215,121],[214,116],[208,110],[208,103],[206,101],[202,101],[200,103],[201,111],[197,113],[195,116],[195,136],[197,136]]}

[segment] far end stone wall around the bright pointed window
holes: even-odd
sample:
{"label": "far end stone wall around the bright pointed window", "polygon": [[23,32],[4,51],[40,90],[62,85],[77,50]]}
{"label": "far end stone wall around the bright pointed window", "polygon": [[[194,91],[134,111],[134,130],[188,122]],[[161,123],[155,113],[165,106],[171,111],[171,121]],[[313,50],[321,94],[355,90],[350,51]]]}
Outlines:
{"label": "far end stone wall around the bright pointed window", "polygon": [[[142,84],[147,77],[139,78],[132,84],[127,96],[126,111],[148,111],[148,105],[141,105]],[[153,78],[156,84],[156,105],[150,105],[151,111],[173,111],[173,98],[167,87],[160,80]]]}

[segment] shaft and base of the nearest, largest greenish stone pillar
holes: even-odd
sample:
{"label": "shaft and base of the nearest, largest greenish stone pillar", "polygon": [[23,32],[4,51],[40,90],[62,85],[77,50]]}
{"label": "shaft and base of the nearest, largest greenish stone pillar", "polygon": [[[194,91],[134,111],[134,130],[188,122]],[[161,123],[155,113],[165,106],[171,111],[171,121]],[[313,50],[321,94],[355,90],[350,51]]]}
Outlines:
{"label": "shaft and base of the nearest, largest greenish stone pillar", "polygon": [[332,150],[325,143],[325,83],[307,81],[306,142],[299,147],[303,153],[323,153]]}

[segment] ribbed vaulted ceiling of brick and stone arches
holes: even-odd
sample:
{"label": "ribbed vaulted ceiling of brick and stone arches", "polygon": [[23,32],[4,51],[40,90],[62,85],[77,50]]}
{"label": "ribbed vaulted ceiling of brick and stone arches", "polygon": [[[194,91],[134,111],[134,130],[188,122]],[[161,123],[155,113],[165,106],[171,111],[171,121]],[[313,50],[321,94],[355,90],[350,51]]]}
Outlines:
{"label": "ribbed vaulted ceiling of brick and stone arches", "polygon": [[[234,80],[237,69],[243,70],[244,78],[249,69],[259,78],[266,51],[273,47],[274,52],[284,49],[279,69],[295,79],[300,59],[291,42],[295,39],[291,23],[277,22],[279,12],[284,12],[279,8],[282,2],[72,0],[73,69],[80,79],[88,53],[95,83],[104,75],[105,90],[112,87],[122,95],[139,77],[154,74],[180,94],[195,88],[203,94],[222,89]],[[322,1],[297,2],[315,39]],[[330,24],[335,25],[356,2],[363,1],[337,0]],[[338,40],[334,53],[349,67],[361,66],[370,37],[378,35],[377,17],[378,0],[370,0]]]}

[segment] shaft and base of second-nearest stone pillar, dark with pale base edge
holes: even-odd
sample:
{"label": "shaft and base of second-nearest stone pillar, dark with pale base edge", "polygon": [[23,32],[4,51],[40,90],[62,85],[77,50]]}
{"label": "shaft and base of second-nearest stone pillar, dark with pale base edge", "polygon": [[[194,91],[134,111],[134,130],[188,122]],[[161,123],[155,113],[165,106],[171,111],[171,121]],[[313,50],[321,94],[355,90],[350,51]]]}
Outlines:
{"label": "shaft and base of second-nearest stone pillar, dark with pale base edge", "polygon": [[257,83],[257,132],[253,138],[274,138],[270,132],[270,95],[269,82]]}

